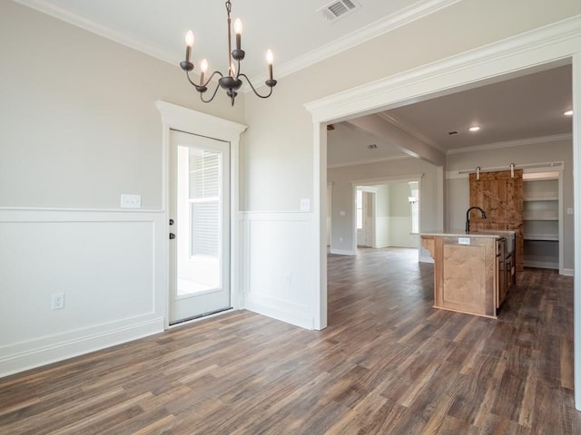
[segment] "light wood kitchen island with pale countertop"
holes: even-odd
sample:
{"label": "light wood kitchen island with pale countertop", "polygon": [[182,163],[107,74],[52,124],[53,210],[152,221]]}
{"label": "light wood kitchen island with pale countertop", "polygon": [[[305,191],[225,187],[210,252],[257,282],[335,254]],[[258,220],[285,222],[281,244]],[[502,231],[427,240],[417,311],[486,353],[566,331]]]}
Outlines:
{"label": "light wood kitchen island with pale countertop", "polygon": [[515,284],[514,231],[421,233],[434,259],[434,307],[497,318]]}

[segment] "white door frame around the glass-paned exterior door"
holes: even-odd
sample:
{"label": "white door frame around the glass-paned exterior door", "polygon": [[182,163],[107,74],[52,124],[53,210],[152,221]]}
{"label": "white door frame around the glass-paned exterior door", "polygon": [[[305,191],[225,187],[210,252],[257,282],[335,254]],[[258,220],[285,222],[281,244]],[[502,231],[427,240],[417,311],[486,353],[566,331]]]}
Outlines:
{"label": "white door frame around the glass-paned exterior door", "polygon": [[[162,231],[168,233],[169,216],[169,189],[170,181],[170,130],[184,131],[208,138],[230,142],[230,300],[232,308],[241,308],[241,268],[240,268],[240,230],[238,226],[239,214],[239,163],[241,134],[247,129],[246,125],[224,120],[216,116],[193,111],[170,102],[155,102],[157,110],[162,114],[162,211],[164,225]],[[164,295],[164,328],[169,325],[169,297],[170,297],[170,249],[169,237],[165,237],[165,287]],[[161,302],[160,302],[161,303]]]}

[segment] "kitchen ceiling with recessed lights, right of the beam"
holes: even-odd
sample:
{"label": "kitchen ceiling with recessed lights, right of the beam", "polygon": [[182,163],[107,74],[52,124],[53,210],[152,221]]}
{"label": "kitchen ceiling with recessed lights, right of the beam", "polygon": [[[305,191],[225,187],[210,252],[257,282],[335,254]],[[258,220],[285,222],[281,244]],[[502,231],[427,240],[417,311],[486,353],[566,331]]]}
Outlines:
{"label": "kitchen ceiling with recessed lights, right of the beam", "polygon": [[[570,133],[571,65],[451,93],[384,112],[444,152]],[[468,131],[478,126],[479,131]],[[449,134],[457,131],[456,134]]]}

